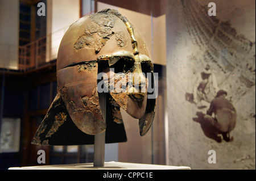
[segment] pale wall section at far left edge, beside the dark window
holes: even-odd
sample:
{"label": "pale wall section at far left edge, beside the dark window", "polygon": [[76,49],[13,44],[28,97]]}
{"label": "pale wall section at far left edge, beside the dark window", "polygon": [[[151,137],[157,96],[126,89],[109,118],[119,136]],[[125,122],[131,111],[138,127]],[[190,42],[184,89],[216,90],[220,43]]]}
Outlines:
{"label": "pale wall section at far left edge, beside the dark window", "polygon": [[0,68],[18,69],[19,0],[0,1]]}

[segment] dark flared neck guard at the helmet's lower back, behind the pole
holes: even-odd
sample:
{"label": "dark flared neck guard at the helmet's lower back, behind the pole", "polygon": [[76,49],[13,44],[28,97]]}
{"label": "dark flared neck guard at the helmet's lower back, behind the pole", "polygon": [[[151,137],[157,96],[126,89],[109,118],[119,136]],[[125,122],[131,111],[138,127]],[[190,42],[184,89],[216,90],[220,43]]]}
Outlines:
{"label": "dark flared neck guard at the helmet's lower back, behind the pole", "polygon": [[[107,112],[112,111],[112,103],[108,103]],[[125,128],[122,123],[116,124],[112,114],[108,114],[106,143],[126,141]],[[118,117],[122,116],[119,115]],[[49,108],[44,120],[36,131],[32,144],[36,145],[87,145],[94,144],[94,136],[85,134],[73,123],[60,94]]]}

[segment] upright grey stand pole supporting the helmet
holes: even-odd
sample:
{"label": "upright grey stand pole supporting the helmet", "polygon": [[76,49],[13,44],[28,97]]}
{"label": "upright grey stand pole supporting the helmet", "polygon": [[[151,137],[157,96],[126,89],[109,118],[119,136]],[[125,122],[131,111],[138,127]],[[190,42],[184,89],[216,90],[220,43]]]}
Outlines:
{"label": "upright grey stand pole supporting the helmet", "polygon": [[[106,123],[106,94],[101,93],[98,95],[100,100],[101,112],[103,119]],[[94,135],[94,167],[104,167],[105,159],[105,131],[100,134]]]}

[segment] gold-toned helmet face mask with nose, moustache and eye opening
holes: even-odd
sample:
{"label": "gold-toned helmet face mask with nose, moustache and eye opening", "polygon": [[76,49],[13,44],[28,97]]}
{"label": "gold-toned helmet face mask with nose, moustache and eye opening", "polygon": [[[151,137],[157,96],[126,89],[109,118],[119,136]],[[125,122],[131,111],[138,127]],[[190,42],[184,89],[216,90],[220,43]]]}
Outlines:
{"label": "gold-toned helmet face mask with nose, moustache and eye opening", "polygon": [[146,110],[148,81],[146,68],[149,65],[146,62],[135,62],[133,58],[123,55],[115,59],[117,61],[110,66],[107,62],[98,64],[103,67],[102,72],[108,77],[105,86],[123,110],[139,119]]}

